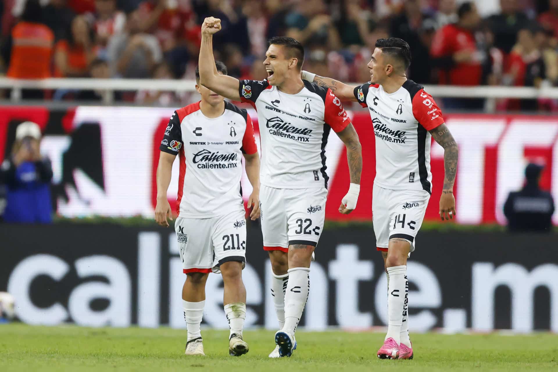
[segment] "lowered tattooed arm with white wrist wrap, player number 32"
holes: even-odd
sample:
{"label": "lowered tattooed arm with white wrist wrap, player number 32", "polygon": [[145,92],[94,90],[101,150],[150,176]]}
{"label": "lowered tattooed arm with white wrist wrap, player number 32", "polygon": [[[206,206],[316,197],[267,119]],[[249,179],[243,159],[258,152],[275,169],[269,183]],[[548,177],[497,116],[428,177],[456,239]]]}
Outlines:
{"label": "lowered tattooed arm with white wrist wrap, player number 32", "polygon": [[350,186],[349,192],[341,200],[339,212],[349,214],[357,206],[358,194],[360,191],[360,175],[362,174],[362,146],[358,139],[357,131],[353,124],[338,132],[337,135],[347,147],[347,163],[349,164]]}

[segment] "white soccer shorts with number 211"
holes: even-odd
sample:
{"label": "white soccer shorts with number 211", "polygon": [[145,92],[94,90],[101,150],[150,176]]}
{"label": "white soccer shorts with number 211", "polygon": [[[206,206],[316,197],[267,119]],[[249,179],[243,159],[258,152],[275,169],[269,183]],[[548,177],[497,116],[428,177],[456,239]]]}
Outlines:
{"label": "white soccer shorts with number 211", "polygon": [[246,264],[246,218],[235,211],[213,218],[182,218],[175,222],[176,237],[185,274],[220,273],[228,261]]}

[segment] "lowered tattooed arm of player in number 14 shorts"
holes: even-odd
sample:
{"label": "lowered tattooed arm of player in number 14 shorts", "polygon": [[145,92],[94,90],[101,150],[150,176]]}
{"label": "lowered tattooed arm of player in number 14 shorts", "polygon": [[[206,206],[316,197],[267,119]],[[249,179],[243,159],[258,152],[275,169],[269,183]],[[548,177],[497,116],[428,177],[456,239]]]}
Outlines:
{"label": "lowered tattooed arm of player in number 14 shorts", "polygon": [[440,197],[440,218],[448,220],[455,216],[453,186],[457,173],[459,149],[446,124],[431,129],[430,134],[444,148],[444,187]]}

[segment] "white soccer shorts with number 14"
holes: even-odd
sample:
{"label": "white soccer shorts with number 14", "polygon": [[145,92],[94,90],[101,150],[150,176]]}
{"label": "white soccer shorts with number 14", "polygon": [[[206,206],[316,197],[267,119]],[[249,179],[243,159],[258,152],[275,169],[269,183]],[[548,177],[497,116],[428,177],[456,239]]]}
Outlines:
{"label": "white soccer shorts with number 14", "polygon": [[372,220],[377,249],[387,251],[389,239],[401,238],[411,243],[413,252],[429,200],[425,190],[387,190],[374,185]]}

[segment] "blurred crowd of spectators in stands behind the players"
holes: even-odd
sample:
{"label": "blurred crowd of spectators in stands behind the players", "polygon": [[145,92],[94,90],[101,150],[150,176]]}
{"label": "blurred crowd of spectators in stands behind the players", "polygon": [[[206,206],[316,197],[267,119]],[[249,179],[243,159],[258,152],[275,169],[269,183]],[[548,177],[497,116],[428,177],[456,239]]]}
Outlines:
{"label": "blurred crowd of spectators in stands behind the players", "polygon": [[[558,0],[4,0],[0,74],[193,79],[200,25],[222,20],[215,57],[230,75],[263,79],[268,38],[306,49],[304,68],[341,81],[369,80],[381,37],[411,45],[419,84],[541,86],[558,83]],[[56,92],[57,99],[100,99]],[[174,93],[123,93],[167,104]],[[448,102],[459,105],[459,102]],[[506,109],[555,110],[554,102],[507,100]]]}

